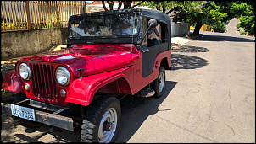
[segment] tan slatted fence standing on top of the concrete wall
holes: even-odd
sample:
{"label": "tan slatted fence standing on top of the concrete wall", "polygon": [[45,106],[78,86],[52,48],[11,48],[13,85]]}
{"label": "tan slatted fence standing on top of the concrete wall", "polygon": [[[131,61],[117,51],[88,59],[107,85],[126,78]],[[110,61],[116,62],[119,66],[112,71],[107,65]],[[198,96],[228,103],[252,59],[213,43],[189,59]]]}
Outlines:
{"label": "tan slatted fence standing on top of the concrete wall", "polygon": [[1,31],[67,27],[84,1],[1,1]]}

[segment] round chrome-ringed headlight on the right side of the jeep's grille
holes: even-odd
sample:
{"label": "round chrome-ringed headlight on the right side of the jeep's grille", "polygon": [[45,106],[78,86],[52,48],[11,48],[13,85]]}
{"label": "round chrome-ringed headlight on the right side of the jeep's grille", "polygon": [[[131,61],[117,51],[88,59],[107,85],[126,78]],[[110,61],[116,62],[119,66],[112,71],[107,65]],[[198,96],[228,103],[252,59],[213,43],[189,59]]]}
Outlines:
{"label": "round chrome-ringed headlight on the right side of the jeep's grille", "polygon": [[55,77],[60,85],[66,86],[70,83],[70,72],[65,67],[58,67],[55,72]]}

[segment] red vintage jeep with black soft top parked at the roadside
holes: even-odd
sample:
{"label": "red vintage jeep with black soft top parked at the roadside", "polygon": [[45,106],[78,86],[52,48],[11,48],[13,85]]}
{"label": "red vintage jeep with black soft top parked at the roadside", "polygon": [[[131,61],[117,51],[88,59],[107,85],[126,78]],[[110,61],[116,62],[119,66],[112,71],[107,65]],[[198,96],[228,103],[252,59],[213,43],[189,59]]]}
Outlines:
{"label": "red vintage jeep with black soft top parked at the roadside", "polygon": [[[151,27],[158,43],[147,37]],[[2,88],[18,94],[13,104],[1,103],[2,113],[30,127],[78,125],[81,141],[114,141],[120,99],[164,93],[170,17],[146,9],[84,13],[71,16],[68,29],[67,48],[22,58],[5,74]]]}

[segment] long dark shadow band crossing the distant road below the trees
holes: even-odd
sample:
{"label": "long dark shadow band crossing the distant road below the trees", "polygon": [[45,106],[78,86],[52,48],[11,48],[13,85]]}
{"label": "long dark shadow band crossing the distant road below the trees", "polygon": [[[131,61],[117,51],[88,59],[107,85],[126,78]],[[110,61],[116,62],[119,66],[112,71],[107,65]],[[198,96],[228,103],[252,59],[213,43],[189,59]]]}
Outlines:
{"label": "long dark shadow band crossing the distant road below the trees", "polygon": [[234,41],[234,42],[255,42],[254,37],[235,37],[235,36],[227,36],[227,35],[201,35],[196,40],[205,40],[205,41]]}

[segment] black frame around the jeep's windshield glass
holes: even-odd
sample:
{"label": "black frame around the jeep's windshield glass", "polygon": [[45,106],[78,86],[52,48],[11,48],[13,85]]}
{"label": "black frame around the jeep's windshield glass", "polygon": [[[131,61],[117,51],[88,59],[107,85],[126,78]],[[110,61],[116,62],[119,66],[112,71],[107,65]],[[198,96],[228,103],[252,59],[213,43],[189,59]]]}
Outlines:
{"label": "black frame around the jeep's windshield glass", "polygon": [[[123,14],[136,14],[136,20],[137,20],[137,26],[136,26],[136,34],[132,34],[132,35],[86,35],[86,36],[70,36],[70,32],[71,32],[71,24],[72,22],[78,22],[78,21],[84,21],[86,19],[93,19],[93,18],[97,18],[99,16],[109,16],[109,15],[113,15],[115,19],[120,19],[118,18],[120,15]],[[134,16],[133,16],[134,17]],[[115,20],[114,19],[114,20]],[[139,35],[141,33],[141,28],[142,28],[142,15],[139,12],[123,12],[123,13],[99,13],[97,15],[90,15],[88,14],[86,17],[76,17],[75,19],[70,19],[69,20],[69,26],[68,26],[68,37],[69,39],[102,39],[102,38],[132,38],[132,37],[136,37],[137,35]],[[134,25],[135,26],[135,25]],[[133,25],[131,26],[133,27]],[[135,27],[134,27],[135,28]],[[113,28],[112,28],[113,29]]]}

